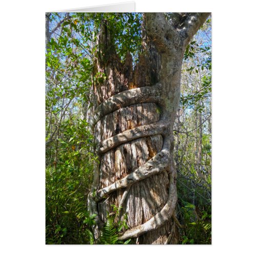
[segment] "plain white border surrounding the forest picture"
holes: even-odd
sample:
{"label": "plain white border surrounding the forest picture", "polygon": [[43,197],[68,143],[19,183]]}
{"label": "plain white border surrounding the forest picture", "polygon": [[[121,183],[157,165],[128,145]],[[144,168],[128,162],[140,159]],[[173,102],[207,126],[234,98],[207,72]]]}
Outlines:
{"label": "plain white border surrounding the forest picture", "polygon": [[[119,1],[111,1],[118,3]],[[212,12],[211,246],[46,246],[45,12],[84,1],[6,1],[1,14],[1,252],[3,255],[251,255],[255,222],[255,22],[252,1],[137,0],[136,11]],[[95,0],[95,5],[105,1]]]}

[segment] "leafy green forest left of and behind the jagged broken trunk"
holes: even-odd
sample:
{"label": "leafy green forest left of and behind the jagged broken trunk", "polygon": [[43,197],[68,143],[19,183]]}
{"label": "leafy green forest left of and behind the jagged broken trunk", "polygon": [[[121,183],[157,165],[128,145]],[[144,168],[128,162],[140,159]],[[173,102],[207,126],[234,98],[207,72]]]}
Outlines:
{"label": "leafy green forest left of and behind the jagged broken trunk", "polygon": [[[50,13],[47,18],[51,36],[46,46],[46,243],[93,244],[94,216],[86,209],[97,159],[86,112],[96,35],[101,20],[108,19],[117,53],[123,59],[130,51],[136,58],[141,14]],[[106,77],[96,74],[93,79]],[[112,218],[104,230],[113,238],[105,236],[104,243],[113,244],[125,226],[112,226]]]}

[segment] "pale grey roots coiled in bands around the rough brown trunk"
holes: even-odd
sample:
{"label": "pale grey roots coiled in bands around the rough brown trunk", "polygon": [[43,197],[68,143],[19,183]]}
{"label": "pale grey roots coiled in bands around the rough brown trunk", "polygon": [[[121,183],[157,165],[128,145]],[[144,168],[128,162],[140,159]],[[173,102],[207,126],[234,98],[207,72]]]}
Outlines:
{"label": "pale grey roots coiled in bands around the rough brown trunk", "polygon": [[[146,86],[142,88],[130,89],[118,93],[109,99],[102,102],[95,110],[93,117],[90,120],[92,131],[94,131],[96,123],[105,115],[110,114],[120,108],[138,103],[152,102],[162,105],[163,98],[161,96],[161,84],[157,83],[155,86]],[[164,110],[163,110],[164,111]],[[176,202],[176,169],[172,164],[171,157],[171,134],[168,116],[162,114],[158,122],[145,124],[133,129],[119,133],[111,138],[105,139],[98,143],[96,153],[100,157],[103,153],[108,152],[112,148],[119,146],[120,144],[153,135],[162,135],[163,146],[162,150],[154,157],[148,160],[144,165],[138,167],[133,173],[125,176],[124,178],[117,180],[113,184],[98,189],[99,186],[99,164],[95,165],[94,169],[94,184],[93,189],[88,197],[88,208],[91,214],[96,215],[96,223],[98,227],[102,227],[102,222],[98,216],[97,203],[108,196],[113,191],[121,188],[126,188],[120,204],[123,204],[124,199],[129,191],[130,187],[143,179],[159,174],[166,170],[169,173],[169,192],[168,199],[164,207],[150,220],[145,223],[126,230],[119,240],[126,240],[129,238],[137,238],[143,233],[155,230],[162,226],[173,215]],[[97,229],[97,227],[96,227]],[[95,233],[99,231],[95,230]]]}

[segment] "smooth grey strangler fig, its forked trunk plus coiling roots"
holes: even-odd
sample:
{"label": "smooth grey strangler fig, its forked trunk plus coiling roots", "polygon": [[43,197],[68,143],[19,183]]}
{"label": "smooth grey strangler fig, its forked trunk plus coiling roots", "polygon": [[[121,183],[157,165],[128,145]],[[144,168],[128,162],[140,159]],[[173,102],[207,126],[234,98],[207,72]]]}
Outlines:
{"label": "smooth grey strangler fig, its forked trunk plus coiling roots", "polygon": [[[155,49],[161,58],[159,82],[117,93],[100,103],[97,108],[94,109],[93,113],[91,113],[89,118],[91,131],[95,132],[98,121],[105,115],[121,108],[133,104],[151,102],[156,103],[161,110],[161,116],[158,122],[140,125],[103,141],[98,141],[95,151],[99,161],[102,154],[120,144],[153,135],[161,135],[163,138],[162,149],[159,153],[148,160],[144,165],[135,169],[134,172],[101,189],[99,189],[99,163],[95,164],[93,187],[88,197],[88,208],[91,214],[96,216],[95,220],[97,225],[94,230],[96,238],[99,234],[99,229],[102,227],[102,222],[98,215],[97,203],[114,191],[124,188],[125,191],[119,203],[120,206],[124,202],[127,191],[129,191],[133,184],[153,175],[160,174],[163,171],[167,172],[169,177],[169,191],[165,205],[150,220],[126,230],[121,234],[119,239],[138,238],[148,231],[159,228],[173,216],[177,202],[177,174],[172,160],[174,141],[172,127],[180,98],[179,90],[182,58],[189,39],[195,34],[207,16],[208,14],[194,14],[183,17],[182,26],[185,28],[183,29],[183,27],[179,26],[177,20],[175,20],[175,24],[172,25],[166,22],[164,15],[161,13],[147,13],[144,19],[148,32],[147,36],[149,41],[154,41]],[[103,23],[101,26],[101,33],[103,33],[102,30],[106,33],[106,23]],[[100,41],[101,38],[101,36],[98,37],[99,46],[100,44],[107,45],[108,41],[102,42]],[[147,41],[144,40],[144,42]],[[111,49],[109,49],[109,51],[111,51]],[[103,58],[103,56],[100,55],[101,52],[99,50],[98,58]]]}

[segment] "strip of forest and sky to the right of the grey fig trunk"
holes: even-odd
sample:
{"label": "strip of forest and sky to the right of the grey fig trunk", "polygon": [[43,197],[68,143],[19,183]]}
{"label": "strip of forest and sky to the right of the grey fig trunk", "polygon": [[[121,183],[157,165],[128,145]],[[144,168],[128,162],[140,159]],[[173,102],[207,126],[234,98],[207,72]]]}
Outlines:
{"label": "strip of forest and sky to the right of the grey fig trunk", "polygon": [[176,119],[177,217],[181,244],[211,243],[210,18],[188,45]]}

